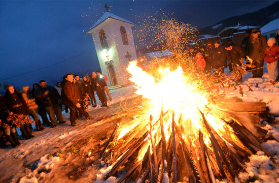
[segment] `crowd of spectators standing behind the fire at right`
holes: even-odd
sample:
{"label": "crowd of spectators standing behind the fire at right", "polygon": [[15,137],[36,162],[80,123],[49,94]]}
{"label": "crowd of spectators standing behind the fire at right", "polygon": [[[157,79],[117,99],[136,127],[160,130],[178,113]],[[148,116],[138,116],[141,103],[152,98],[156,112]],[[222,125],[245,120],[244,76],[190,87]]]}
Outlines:
{"label": "crowd of spectators standing behind the fire at right", "polygon": [[[263,76],[263,66],[266,62],[269,74],[269,80],[279,80],[279,30],[275,38],[269,38],[268,41],[261,36],[261,31],[253,29],[246,31],[246,37],[241,45],[234,45],[227,42],[224,45],[220,41],[207,42],[205,47],[196,48],[189,46],[185,53],[194,58],[195,66],[198,72],[206,74],[212,70],[220,70],[224,73],[224,68],[229,67],[230,72],[238,71],[238,66],[243,63],[252,66],[252,77]],[[250,60],[248,58],[251,58]],[[212,70],[211,70],[212,69]],[[249,68],[247,68],[249,70]],[[242,76],[237,82],[242,82]]]}

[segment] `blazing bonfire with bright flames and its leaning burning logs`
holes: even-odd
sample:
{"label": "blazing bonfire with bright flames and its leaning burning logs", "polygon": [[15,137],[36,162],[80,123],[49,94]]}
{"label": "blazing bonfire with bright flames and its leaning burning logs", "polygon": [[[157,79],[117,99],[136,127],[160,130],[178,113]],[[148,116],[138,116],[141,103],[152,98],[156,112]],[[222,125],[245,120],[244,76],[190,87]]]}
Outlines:
{"label": "blazing bonfire with bright flames and its leaning burning logs", "polygon": [[[136,62],[127,70],[136,93],[150,103],[144,118],[113,132],[101,155],[113,164],[104,178],[124,170],[117,182],[239,182],[249,156],[259,150],[272,156],[259,140],[266,131],[243,123],[231,105],[216,103],[181,67],[159,69],[156,77]],[[265,110],[257,105],[264,107],[252,110]]]}

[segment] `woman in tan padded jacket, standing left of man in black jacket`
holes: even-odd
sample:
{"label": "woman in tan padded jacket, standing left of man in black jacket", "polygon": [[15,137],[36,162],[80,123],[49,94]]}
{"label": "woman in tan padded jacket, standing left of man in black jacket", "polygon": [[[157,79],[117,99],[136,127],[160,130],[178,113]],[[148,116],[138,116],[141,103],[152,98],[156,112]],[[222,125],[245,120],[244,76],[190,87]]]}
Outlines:
{"label": "woman in tan padded jacket, standing left of man in black jacket", "polygon": [[23,86],[21,95],[29,108],[32,118],[35,121],[37,131],[44,130],[44,128],[41,127],[41,121],[38,115],[38,105],[36,104],[35,99],[31,99],[30,87]]}

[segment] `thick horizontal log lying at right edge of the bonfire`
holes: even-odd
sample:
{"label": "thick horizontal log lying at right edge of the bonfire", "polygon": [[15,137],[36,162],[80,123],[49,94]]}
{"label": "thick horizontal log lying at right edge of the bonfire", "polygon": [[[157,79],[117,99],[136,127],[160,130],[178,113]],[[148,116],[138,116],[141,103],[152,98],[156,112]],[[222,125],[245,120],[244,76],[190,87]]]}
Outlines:
{"label": "thick horizontal log lying at right edge of the bonfire", "polygon": [[216,104],[218,108],[232,111],[265,111],[265,102],[222,102]]}

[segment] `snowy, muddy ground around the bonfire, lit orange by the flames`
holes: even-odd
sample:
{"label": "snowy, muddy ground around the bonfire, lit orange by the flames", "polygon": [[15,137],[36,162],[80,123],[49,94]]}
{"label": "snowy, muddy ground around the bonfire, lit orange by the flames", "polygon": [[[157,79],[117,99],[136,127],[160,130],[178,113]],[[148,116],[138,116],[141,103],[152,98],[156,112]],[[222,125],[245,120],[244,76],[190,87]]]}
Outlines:
{"label": "snowy, muddy ground around the bonfire, lit orange by the flames", "polygon": [[[267,80],[250,78],[245,83]],[[227,90],[227,98],[239,98],[243,101],[266,102],[270,112],[279,122],[279,84],[259,84],[252,86],[254,92],[243,87],[243,97],[239,90]],[[69,114],[65,114],[66,124],[55,129],[46,127],[44,131],[33,132],[34,138],[20,140],[22,145],[17,148],[0,149],[0,182],[95,182],[101,168],[98,161],[99,146],[106,141],[116,123],[127,123],[135,113],[141,113],[142,100],[134,95],[132,85],[110,90],[113,101],[106,108],[90,108],[92,120],[79,119],[79,126],[72,127]],[[131,111],[125,112],[131,109]],[[261,121],[267,136],[272,136],[263,145],[275,155],[279,163],[279,129],[276,125]],[[274,140],[276,139],[276,140]],[[247,172],[240,174],[242,181],[256,180],[260,182],[279,182],[279,168],[262,152],[250,157]],[[113,181],[112,181],[113,182]]]}

